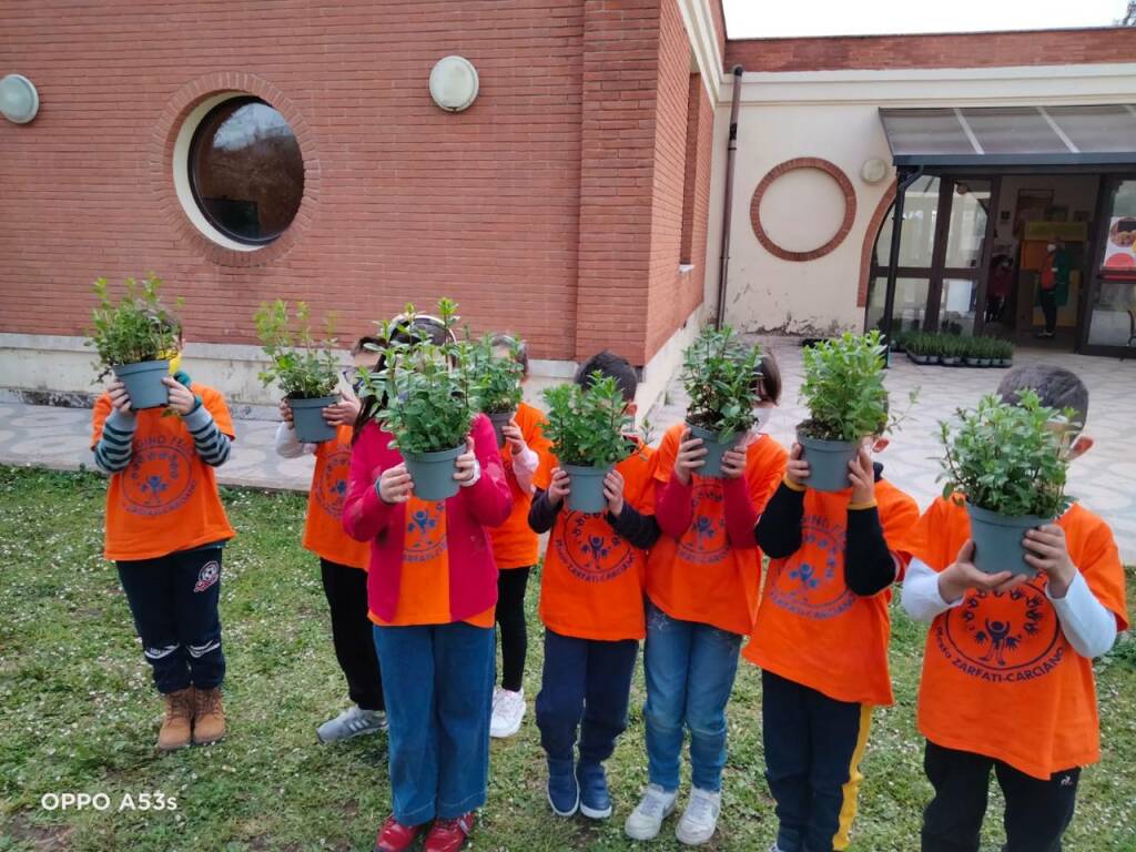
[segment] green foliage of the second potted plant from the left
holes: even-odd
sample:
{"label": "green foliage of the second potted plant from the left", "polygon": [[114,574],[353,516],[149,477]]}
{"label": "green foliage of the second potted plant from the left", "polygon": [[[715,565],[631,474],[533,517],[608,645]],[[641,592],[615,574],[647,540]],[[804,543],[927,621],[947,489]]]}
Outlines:
{"label": "green foliage of the second potted plant from the left", "polygon": [[269,366],[259,374],[261,384],[267,387],[275,382],[284,395],[293,400],[334,393],[340,382],[340,367],[333,351],[333,316],[326,319],[323,340],[316,340],[311,333],[310,314],[304,302],[296,302],[294,327],[287,302],[279,299],[261,304],[253,319],[260,345],[269,360]]}

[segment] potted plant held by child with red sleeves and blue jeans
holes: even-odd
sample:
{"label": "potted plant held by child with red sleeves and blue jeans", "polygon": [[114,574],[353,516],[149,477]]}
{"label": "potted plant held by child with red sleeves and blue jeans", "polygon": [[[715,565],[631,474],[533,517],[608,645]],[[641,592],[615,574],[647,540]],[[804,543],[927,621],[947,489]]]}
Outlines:
{"label": "potted plant held by child with red sleeves and blue jeans", "polygon": [[729,326],[702,329],[683,352],[686,425],[707,448],[700,476],[721,476],[722,456],[753,426],[760,365],[761,346],[746,344]]}

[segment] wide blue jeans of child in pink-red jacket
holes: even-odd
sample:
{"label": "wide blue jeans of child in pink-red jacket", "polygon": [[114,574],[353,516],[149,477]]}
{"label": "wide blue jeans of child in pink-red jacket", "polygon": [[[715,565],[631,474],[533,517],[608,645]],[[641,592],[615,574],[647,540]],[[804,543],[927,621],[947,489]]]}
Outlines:
{"label": "wide blue jeans of child in pink-red jacket", "polygon": [[391,805],[404,826],[485,804],[496,640],[468,624],[378,627]]}

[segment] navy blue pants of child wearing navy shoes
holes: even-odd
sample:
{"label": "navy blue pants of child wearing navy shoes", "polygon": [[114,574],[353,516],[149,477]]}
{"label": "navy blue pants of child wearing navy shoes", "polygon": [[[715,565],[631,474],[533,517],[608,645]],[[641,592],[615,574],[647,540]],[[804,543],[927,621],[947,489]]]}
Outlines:
{"label": "navy blue pants of child wearing navy shoes", "polygon": [[544,632],[544,674],[536,725],[549,760],[571,760],[579,730],[579,762],[602,763],[627,728],[627,702],[638,642],[601,642]]}

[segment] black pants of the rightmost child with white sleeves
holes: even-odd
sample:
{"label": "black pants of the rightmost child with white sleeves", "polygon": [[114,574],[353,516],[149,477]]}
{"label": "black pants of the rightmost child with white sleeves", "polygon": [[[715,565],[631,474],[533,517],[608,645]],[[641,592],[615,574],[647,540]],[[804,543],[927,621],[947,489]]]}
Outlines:
{"label": "black pants of the rightmost child with white sleeves", "polygon": [[1061,852],[1061,835],[1072,821],[1079,768],[1042,780],[1001,760],[932,742],[924,752],[924,770],[935,797],[924,811],[922,852],[978,852],[991,769],[1005,796],[1003,852]]}

